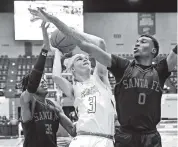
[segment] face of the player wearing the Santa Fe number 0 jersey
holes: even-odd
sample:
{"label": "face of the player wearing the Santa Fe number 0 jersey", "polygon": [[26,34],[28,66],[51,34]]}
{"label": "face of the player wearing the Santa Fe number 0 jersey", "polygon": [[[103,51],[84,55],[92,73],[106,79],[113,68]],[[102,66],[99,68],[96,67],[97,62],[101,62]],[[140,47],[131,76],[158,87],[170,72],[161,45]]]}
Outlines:
{"label": "face of the player wearing the Santa Fe number 0 jersey", "polygon": [[134,47],[134,57],[151,57],[153,54],[154,44],[149,37],[140,37]]}

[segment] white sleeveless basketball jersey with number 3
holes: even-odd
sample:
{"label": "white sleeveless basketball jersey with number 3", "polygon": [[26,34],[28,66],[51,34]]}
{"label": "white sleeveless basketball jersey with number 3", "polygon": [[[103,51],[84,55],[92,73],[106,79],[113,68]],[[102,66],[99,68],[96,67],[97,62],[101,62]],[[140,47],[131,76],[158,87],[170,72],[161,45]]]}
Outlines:
{"label": "white sleeveless basketball jersey with number 3", "polygon": [[91,76],[85,82],[76,82],[74,106],[78,109],[78,131],[114,135],[114,107],[112,91],[99,77]]}

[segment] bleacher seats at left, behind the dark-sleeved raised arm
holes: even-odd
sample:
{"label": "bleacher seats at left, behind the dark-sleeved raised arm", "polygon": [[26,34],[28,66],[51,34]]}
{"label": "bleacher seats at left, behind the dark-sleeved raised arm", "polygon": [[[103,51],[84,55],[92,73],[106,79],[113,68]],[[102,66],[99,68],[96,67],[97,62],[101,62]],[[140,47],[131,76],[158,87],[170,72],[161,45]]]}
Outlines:
{"label": "bleacher seats at left, behind the dark-sleeved raised arm", "polygon": [[[24,75],[29,73],[34,67],[38,56],[22,56],[18,58],[8,58],[7,55],[0,58],[0,91],[7,98],[20,97],[20,82]],[[49,98],[56,97],[56,90],[52,80],[53,56],[48,56],[45,64],[44,73],[47,75],[49,88]]]}

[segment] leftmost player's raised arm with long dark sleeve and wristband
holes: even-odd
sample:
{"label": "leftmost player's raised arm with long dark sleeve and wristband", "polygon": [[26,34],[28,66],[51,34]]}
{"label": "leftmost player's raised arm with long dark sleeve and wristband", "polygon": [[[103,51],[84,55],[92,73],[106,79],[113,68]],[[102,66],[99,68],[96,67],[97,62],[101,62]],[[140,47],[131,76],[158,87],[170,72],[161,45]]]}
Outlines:
{"label": "leftmost player's raised arm with long dark sleeve and wristband", "polygon": [[[45,36],[47,35],[47,28],[45,27],[45,22],[42,23],[42,32],[44,36],[44,45],[40,52],[40,55],[37,59],[37,62],[34,65],[31,73],[28,76],[25,76],[22,80],[23,93],[20,97],[20,104],[22,108],[22,121],[23,123],[28,122],[32,119],[33,110],[30,109],[30,106],[33,106],[33,94],[37,91],[37,88],[40,84],[41,77],[43,75],[43,70],[46,62],[47,53],[49,50],[49,44],[45,41]],[[30,105],[31,102],[31,105]]]}

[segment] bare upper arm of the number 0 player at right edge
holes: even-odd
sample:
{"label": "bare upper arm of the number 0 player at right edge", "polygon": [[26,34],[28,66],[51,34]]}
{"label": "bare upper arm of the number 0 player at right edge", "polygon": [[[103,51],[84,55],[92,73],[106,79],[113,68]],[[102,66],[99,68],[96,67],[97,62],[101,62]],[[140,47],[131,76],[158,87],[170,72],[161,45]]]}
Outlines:
{"label": "bare upper arm of the number 0 player at right edge", "polygon": [[177,45],[171,50],[170,54],[167,56],[168,71],[174,70],[177,65]]}

